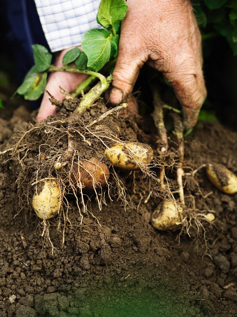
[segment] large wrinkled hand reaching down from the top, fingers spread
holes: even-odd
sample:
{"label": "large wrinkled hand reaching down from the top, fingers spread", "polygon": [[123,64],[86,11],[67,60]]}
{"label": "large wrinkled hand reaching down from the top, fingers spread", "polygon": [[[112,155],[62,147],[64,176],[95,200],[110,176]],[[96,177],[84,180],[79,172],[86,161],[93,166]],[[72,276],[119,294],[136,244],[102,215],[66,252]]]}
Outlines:
{"label": "large wrinkled hand reaching down from the top, fingers spread", "polygon": [[194,126],[206,97],[201,35],[189,0],[127,0],[110,99],[119,103],[131,92],[145,62],[172,84]]}

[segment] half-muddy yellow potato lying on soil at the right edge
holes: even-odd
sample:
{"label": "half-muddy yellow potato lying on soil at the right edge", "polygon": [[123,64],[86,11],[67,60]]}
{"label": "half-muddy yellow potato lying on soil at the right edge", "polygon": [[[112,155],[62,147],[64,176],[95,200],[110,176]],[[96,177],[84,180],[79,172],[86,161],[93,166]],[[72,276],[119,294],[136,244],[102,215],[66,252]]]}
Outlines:
{"label": "half-muddy yellow potato lying on soil at the right edge", "polygon": [[206,169],[207,176],[219,190],[226,194],[237,192],[237,176],[222,164],[209,164]]}

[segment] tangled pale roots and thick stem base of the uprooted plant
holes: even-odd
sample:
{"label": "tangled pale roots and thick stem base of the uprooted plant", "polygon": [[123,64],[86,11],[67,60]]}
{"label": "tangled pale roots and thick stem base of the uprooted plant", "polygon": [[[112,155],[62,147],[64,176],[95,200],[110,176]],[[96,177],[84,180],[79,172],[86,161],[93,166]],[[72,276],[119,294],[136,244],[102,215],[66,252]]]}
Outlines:
{"label": "tangled pale roots and thick stem base of the uprooted plant", "polygon": [[[110,80],[111,77],[108,77],[107,85]],[[74,198],[73,204],[77,207],[75,211],[78,213],[78,218],[80,217],[79,226],[82,224],[84,215],[92,217],[100,225],[97,215],[92,211],[92,200],[97,203],[99,211],[102,210],[102,206],[106,204],[107,200],[113,201],[114,199],[121,201],[121,205],[124,206],[125,210],[127,208],[134,208],[130,193],[126,189],[125,181],[113,166],[110,168],[110,179],[106,181],[104,188],[101,187],[100,183],[96,182],[93,174],[88,171],[83,163],[89,162],[95,164],[88,159],[88,153],[92,153],[92,157],[95,156],[108,164],[106,158],[103,157],[103,152],[101,153],[101,146],[106,149],[114,143],[122,144],[130,158],[136,161],[141,170],[139,173],[143,177],[141,187],[143,188],[144,199],[147,197],[148,201],[151,195],[157,195],[158,192],[156,175],[150,168],[158,166],[157,162],[155,161],[150,167],[138,162],[135,153],[126,145],[125,141],[115,136],[113,131],[109,129],[108,131],[101,131],[97,128],[98,123],[102,120],[105,120],[105,125],[109,122],[109,126],[113,126],[114,123],[110,117],[116,119],[118,111],[127,107],[127,104],[124,103],[110,109],[95,119],[89,111],[82,115],[82,112],[92,107],[94,101],[106,89],[107,87],[99,82],[79,102],[79,100],[74,99],[73,96],[61,88],[64,97],[67,100],[72,100],[74,106],[76,105],[76,110],[71,113],[70,117],[63,120],[60,118],[51,118],[48,122],[37,122],[35,125],[30,124],[27,131],[19,132],[15,138],[15,144],[2,152],[3,155],[8,155],[9,153],[10,158],[8,159],[11,159],[14,163],[20,208],[26,208],[25,203],[27,202],[28,210],[32,209],[32,198],[36,190],[35,186],[39,191],[43,181],[52,179],[57,181],[58,186],[61,188],[58,232],[62,234],[63,245],[66,222],[69,222],[72,226],[69,215],[73,206],[69,203],[70,200],[68,197],[71,196]],[[57,103],[57,100],[55,101],[52,95],[50,97],[51,101]],[[62,106],[62,104],[60,103],[58,106]],[[94,120],[92,121],[91,118]],[[77,172],[79,177],[76,178],[76,182],[73,178],[75,176],[74,163],[78,165]],[[93,179],[93,191],[90,194],[85,191],[84,184],[82,183],[81,169],[84,169],[88,173],[88,176]],[[39,226],[41,230],[40,235],[44,243],[51,245],[53,253],[55,247],[50,238],[51,222],[45,219]]]}

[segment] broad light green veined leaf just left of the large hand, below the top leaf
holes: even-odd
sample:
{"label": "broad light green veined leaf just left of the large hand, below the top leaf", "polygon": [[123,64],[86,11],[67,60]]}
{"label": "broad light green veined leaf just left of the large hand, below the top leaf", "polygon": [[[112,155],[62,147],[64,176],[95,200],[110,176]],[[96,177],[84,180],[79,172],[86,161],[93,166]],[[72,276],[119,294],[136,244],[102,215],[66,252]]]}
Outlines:
{"label": "broad light green veined leaf just left of the large hand, below the top leaf", "polygon": [[88,67],[98,72],[110,58],[110,34],[104,29],[88,30],[82,38],[82,50],[88,58]]}

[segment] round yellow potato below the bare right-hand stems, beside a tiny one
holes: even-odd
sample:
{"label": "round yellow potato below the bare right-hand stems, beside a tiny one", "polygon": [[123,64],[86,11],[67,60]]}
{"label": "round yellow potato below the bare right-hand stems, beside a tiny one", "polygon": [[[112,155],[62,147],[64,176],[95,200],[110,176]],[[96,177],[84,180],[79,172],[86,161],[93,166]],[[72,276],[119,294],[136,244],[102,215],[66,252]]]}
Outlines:
{"label": "round yellow potato below the bare right-hand stems, beside a tiny one", "polygon": [[177,223],[180,222],[180,214],[183,212],[179,204],[177,204],[177,209],[173,202],[162,201],[152,214],[151,223],[153,227],[162,231],[176,230]]}

